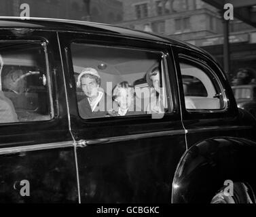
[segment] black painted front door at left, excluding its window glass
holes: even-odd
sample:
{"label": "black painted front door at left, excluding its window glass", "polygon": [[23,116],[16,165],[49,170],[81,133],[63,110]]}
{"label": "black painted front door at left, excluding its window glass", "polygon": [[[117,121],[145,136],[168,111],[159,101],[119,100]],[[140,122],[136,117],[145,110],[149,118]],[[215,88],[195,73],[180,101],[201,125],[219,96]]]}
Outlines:
{"label": "black painted front door at left, excluding its window glass", "polygon": [[[69,132],[64,80],[56,33],[33,31],[29,33],[29,36],[16,36],[12,31],[1,30],[0,40],[45,41],[47,43],[55,111],[54,119],[51,121],[0,125],[0,202],[77,203],[73,138]],[[47,150],[48,146],[58,144],[58,142],[62,143],[59,149]],[[27,151],[29,149],[31,151]],[[37,151],[37,149],[45,150]],[[22,187],[20,181],[22,180],[29,181],[30,197],[20,195],[19,190]]]}

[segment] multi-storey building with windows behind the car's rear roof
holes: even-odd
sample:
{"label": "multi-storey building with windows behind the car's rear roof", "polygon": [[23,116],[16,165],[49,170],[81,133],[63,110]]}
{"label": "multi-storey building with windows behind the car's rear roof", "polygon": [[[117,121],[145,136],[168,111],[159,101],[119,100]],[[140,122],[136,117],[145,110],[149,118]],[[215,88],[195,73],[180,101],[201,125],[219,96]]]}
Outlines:
{"label": "multi-storey building with windows behind the car's rear roof", "polygon": [[[119,26],[160,33],[204,48],[223,64],[222,14],[201,0],[123,0]],[[239,68],[256,72],[256,31],[240,20],[230,22],[230,77]],[[256,73],[255,73],[256,77]]]}

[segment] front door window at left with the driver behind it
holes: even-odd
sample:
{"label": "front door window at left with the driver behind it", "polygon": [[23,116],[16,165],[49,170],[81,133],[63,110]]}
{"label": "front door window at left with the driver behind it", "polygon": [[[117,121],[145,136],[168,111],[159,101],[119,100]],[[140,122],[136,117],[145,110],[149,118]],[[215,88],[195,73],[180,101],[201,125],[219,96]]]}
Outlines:
{"label": "front door window at left with the driver behind it", "polygon": [[52,118],[44,43],[0,41],[0,123]]}

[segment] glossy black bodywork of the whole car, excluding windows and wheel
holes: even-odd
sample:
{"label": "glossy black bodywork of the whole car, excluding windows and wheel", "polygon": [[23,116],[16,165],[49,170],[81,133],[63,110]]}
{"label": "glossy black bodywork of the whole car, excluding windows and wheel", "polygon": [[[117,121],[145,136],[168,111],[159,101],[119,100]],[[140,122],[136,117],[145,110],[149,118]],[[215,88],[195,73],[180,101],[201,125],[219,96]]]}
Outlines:
{"label": "glossy black bodywork of the whole car, excluding windows and wheel", "polygon": [[[15,28],[29,31],[20,33]],[[0,125],[1,202],[208,203],[224,180],[232,178],[246,180],[256,190],[251,183],[256,183],[251,172],[255,171],[255,120],[238,111],[231,87],[217,63],[205,52],[147,33],[87,22],[5,18],[0,20],[0,30],[1,40],[39,40],[48,44],[56,112],[51,121]],[[178,74],[177,78],[169,75],[174,113],[163,119],[144,116],[125,121],[82,120],[77,112],[71,39],[166,52],[168,71],[174,72],[176,67]],[[184,109],[184,100],[179,100],[183,90],[177,62],[181,48],[186,54],[203,56],[218,71],[229,100],[225,112],[189,113]],[[87,146],[78,142],[97,139],[105,142]],[[45,144],[42,149],[47,149],[52,142],[64,142],[67,146],[37,150],[39,144]],[[31,151],[26,150],[28,145]],[[10,148],[9,153],[5,147]],[[21,197],[17,190],[17,183],[24,179],[31,182],[31,197]],[[172,192],[173,179],[179,188]]]}

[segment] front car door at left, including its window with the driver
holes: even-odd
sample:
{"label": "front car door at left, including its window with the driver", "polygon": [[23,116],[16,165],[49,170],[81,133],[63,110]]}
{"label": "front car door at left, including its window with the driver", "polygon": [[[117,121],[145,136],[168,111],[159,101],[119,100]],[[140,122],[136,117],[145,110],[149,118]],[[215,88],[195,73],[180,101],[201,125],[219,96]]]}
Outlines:
{"label": "front car door at left, including its window with the driver", "polygon": [[0,64],[0,202],[78,202],[56,33],[0,29]]}

